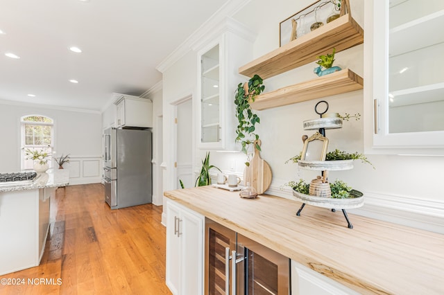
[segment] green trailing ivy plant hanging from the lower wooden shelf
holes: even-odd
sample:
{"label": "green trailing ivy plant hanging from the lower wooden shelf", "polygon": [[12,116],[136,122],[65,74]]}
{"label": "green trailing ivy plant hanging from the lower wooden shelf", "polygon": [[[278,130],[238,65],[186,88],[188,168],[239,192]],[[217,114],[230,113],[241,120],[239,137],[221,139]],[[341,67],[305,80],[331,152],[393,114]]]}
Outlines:
{"label": "green trailing ivy plant hanging from the lower wooden shelf", "polygon": [[[259,75],[253,75],[253,78],[248,82],[237,85],[237,91],[234,96],[234,104],[236,105],[236,118],[238,121],[236,129],[236,142],[240,142],[242,145],[242,152],[248,157],[248,147],[252,144],[255,145],[257,150],[261,150],[257,141],[259,140],[259,134],[255,132],[257,123],[260,123],[259,116],[253,112],[250,107],[250,101],[254,102],[255,97],[264,91],[265,86],[262,84],[263,80]],[[246,166],[250,163],[246,161]]]}

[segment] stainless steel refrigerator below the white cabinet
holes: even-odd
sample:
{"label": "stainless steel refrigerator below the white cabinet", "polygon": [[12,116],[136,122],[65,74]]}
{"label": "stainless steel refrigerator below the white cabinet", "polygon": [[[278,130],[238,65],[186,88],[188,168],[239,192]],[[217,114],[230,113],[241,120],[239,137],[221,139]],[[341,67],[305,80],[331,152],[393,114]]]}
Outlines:
{"label": "stainless steel refrigerator below the white cabinet", "polygon": [[151,137],[149,129],[105,129],[103,182],[112,209],[152,202]]}

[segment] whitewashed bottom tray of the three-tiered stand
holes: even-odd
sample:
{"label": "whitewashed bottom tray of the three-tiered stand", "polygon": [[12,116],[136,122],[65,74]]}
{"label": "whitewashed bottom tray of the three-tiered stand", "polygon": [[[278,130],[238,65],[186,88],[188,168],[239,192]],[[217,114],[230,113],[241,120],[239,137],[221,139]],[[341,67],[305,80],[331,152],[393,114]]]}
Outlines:
{"label": "whitewashed bottom tray of the three-tiered stand", "polygon": [[362,193],[355,190],[360,194],[360,197],[348,198],[348,199],[336,199],[332,197],[316,197],[311,195],[305,195],[293,190],[293,196],[300,199],[305,204],[312,206],[318,206],[330,209],[352,209],[359,208],[364,205],[364,196]]}

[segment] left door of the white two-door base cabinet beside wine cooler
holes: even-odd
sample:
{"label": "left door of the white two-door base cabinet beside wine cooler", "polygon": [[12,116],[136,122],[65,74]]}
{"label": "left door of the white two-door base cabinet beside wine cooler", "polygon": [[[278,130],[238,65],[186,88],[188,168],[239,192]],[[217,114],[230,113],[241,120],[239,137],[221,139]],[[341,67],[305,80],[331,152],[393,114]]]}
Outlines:
{"label": "left door of the white two-door base cabinet beside wine cooler", "polygon": [[180,282],[180,238],[178,232],[178,218],[180,208],[173,202],[167,201],[167,286],[173,294],[179,293]]}

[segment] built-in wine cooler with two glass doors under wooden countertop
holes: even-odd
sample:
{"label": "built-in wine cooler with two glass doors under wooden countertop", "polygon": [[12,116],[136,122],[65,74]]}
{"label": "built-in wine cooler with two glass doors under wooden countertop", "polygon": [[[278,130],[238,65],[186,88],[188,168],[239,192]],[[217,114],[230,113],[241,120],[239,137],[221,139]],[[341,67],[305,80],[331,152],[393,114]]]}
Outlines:
{"label": "built-in wine cooler with two glass doors under wooden countertop", "polygon": [[205,294],[288,295],[290,260],[205,219]]}

